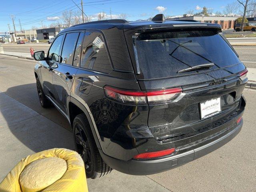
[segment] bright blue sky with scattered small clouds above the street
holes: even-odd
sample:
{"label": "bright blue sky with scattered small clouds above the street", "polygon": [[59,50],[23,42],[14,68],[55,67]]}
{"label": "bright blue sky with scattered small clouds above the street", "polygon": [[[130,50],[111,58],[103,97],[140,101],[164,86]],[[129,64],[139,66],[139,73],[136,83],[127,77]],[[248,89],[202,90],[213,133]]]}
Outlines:
{"label": "bright blue sky with scattered small clouds above the street", "polygon": [[[74,0],[77,4],[81,0]],[[127,14],[127,20],[147,19],[158,13],[165,15],[180,15],[187,10],[193,9],[194,12],[206,6],[213,8],[213,12],[223,12],[224,6],[234,0],[83,0],[84,12],[96,19],[99,12],[110,14],[112,10],[113,18],[120,13]],[[20,30],[19,19],[22,29],[30,29],[32,26],[48,26],[52,22],[62,22],[61,15],[63,10],[78,10],[72,0],[8,0],[0,11],[0,31],[8,31],[8,24],[13,30],[10,14],[15,16],[16,30]],[[42,22],[41,22],[42,21]]]}

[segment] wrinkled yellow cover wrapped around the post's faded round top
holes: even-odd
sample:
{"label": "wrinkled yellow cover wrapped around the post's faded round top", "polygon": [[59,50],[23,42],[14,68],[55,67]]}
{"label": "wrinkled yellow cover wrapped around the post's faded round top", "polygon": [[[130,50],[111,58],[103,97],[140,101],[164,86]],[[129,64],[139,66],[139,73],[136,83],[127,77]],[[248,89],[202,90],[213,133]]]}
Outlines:
{"label": "wrinkled yellow cover wrapped around the post's faded round top", "polygon": [[22,192],[19,183],[22,170],[31,162],[46,157],[58,157],[66,160],[67,171],[62,178],[46,187],[42,192],[88,192],[82,158],[77,152],[63,148],[45,150],[22,159],[0,183],[0,192]]}

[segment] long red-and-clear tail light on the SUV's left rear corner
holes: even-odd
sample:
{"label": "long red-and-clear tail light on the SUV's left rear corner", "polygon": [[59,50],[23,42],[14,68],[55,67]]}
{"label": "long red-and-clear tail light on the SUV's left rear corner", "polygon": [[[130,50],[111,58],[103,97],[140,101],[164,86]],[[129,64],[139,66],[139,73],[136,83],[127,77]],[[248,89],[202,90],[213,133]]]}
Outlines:
{"label": "long red-and-clear tail light on the SUV's left rear corner", "polygon": [[105,94],[108,98],[117,100],[119,102],[134,102],[138,104],[166,102],[176,98],[181,92],[182,88],[172,88],[157,91],[130,91],[112,88],[110,86],[104,87]]}

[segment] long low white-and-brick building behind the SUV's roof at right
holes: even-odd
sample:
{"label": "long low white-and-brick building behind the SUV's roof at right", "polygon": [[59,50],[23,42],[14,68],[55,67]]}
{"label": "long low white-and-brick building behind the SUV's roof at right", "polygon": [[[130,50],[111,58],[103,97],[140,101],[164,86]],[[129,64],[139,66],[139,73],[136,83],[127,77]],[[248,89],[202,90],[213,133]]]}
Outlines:
{"label": "long low white-and-brick building behind the SUV's roof at right", "polygon": [[224,17],[224,16],[187,16],[177,18],[167,18],[167,20],[196,20],[202,23],[215,23],[220,24],[222,29],[232,29],[234,28],[235,20],[238,17]]}

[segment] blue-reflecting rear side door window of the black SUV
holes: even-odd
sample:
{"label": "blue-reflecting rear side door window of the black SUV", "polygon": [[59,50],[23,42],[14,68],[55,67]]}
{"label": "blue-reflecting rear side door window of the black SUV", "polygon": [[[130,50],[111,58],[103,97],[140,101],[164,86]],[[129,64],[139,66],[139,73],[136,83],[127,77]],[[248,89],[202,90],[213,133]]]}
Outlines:
{"label": "blue-reflecting rear side door window of the black SUV", "polygon": [[78,35],[79,33],[66,34],[61,54],[62,63],[72,65]]}

